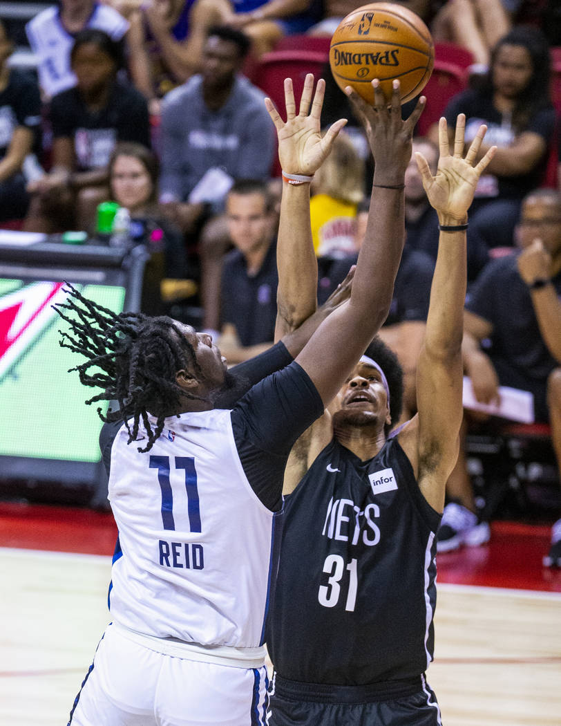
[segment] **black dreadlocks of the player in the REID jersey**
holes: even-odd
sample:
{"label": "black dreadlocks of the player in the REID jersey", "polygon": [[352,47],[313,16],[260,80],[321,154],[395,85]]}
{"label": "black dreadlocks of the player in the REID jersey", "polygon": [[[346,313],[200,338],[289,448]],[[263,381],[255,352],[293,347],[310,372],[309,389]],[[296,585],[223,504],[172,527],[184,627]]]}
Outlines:
{"label": "black dreadlocks of the player in the REID jersey", "polygon": [[[162,433],[166,414],[176,412],[181,399],[206,400],[176,383],[176,372],[188,364],[201,373],[194,348],[169,317],[115,314],[85,298],[70,283],[66,285],[67,300],[53,306],[70,325],[70,333],[59,331],[59,343],[87,359],[68,372],[77,370],[84,386],[102,388],[86,404],[118,402],[118,410],[108,408],[104,415],[99,407],[97,413],[106,423],[123,421],[128,444],[138,440],[142,422],[148,442],[138,450],[147,452]],[[156,416],[155,426],[148,412]]]}

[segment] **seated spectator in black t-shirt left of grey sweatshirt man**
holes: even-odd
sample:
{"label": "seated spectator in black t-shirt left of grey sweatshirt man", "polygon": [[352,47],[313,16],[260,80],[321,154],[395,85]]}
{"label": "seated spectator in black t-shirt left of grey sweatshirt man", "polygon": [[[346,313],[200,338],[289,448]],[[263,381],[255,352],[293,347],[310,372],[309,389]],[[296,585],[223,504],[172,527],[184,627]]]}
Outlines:
{"label": "seated spectator in black t-shirt left of grey sweatshirt man", "polygon": [[28,186],[26,229],[89,229],[109,193],[107,164],[116,142],[150,146],[146,99],[117,79],[120,63],[120,45],[103,30],[77,34],[70,65],[78,85],[52,99],[53,166]]}

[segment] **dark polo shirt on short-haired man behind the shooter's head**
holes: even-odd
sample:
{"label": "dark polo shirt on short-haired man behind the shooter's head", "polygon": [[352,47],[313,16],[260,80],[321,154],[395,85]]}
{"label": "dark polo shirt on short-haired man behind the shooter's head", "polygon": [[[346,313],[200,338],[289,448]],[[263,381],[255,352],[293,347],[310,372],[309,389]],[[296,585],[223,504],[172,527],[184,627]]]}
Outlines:
{"label": "dark polo shirt on short-haired man behind the shooter's head", "polygon": [[251,277],[241,252],[233,250],[226,256],[222,271],[221,324],[236,326],[242,346],[273,340],[278,285],[276,242],[267,250],[259,272]]}

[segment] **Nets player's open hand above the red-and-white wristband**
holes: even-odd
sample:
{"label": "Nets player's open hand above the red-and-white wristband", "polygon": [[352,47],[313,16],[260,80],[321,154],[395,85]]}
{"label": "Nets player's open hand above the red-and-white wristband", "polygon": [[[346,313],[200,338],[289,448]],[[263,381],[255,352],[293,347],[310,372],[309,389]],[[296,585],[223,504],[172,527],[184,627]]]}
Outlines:
{"label": "Nets player's open hand above the red-and-white wristband", "polygon": [[284,79],[286,121],[282,121],[271,99],[265,99],[266,109],[269,111],[279,137],[279,160],[282,170],[287,174],[306,174],[307,176],[314,174],[329,155],[335,137],[347,123],[346,118],[340,118],[329,127],[327,134],[322,136],[320,117],[325,93],[323,78],[317,82],[314,102],[312,102],[310,111],[313,90],[314,76],[308,73],[306,81],[304,81],[300,110],[297,115],[292,78]]}

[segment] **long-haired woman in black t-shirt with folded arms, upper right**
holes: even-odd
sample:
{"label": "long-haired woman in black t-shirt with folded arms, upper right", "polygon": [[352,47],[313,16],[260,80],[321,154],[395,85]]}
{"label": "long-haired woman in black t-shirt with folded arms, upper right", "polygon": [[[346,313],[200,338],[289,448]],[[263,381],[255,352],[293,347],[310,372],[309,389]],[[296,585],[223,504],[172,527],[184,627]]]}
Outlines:
{"label": "long-haired woman in black t-shirt with folded arms, upper right", "polygon": [[465,113],[466,143],[486,123],[479,153],[491,144],[498,147],[475,192],[468,248],[474,234],[489,249],[512,245],[520,202],[541,184],[555,123],[549,65],[549,49],[539,30],[515,28],[496,44],[483,86],[463,91],[446,107],[451,139],[456,116]]}

